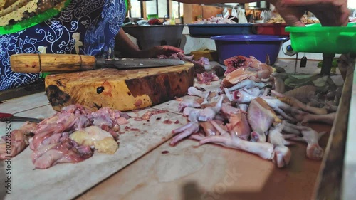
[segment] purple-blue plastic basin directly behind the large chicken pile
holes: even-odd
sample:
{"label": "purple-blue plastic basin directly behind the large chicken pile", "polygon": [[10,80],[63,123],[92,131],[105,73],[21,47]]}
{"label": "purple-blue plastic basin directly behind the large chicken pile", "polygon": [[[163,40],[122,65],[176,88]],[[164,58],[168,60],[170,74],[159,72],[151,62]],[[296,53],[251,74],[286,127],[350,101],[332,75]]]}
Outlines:
{"label": "purple-blue plastic basin directly behind the large chicken pile", "polygon": [[288,37],[266,36],[266,35],[227,35],[212,36],[215,41],[219,63],[233,56],[254,56],[262,63],[266,62],[268,55],[271,65],[276,62],[283,41]]}

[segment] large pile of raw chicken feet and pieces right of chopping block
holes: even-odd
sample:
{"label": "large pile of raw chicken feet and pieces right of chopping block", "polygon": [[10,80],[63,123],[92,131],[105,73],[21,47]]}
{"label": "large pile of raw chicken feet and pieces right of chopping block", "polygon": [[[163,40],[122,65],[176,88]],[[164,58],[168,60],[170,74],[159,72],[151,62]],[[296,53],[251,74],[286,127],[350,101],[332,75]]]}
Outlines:
{"label": "large pile of raw chicken feet and pieces right of chopping block", "polygon": [[172,146],[189,137],[199,144],[214,143],[250,152],[285,167],[291,157],[287,146],[303,141],[308,144],[306,157],[323,158],[318,140],[325,132],[316,132],[305,123],[333,124],[337,106],[305,104],[315,98],[313,85],[286,92],[275,68],[252,56],[234,56],[224,64],[220,88],[188,89],[195,98],[182,100],[178,110],[189,122],[172,131]]}

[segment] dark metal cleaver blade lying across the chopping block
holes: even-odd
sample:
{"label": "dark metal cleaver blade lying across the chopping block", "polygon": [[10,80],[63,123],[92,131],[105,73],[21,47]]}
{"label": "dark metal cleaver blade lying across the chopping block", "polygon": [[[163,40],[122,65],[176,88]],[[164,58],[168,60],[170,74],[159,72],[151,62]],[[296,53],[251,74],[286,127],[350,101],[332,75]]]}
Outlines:
{"label": "dark metal cleaver blade lying across the chopping block", "polygon": [[[101,60],[97,61],[100,65]],[[103,68],[117,68],[117,69],[133,69],[133,68],[158,68],[169,67],[174,65],[184,65],[185,62],[178,59],[159,59],[159,58],[122,58],[105,60]]]}

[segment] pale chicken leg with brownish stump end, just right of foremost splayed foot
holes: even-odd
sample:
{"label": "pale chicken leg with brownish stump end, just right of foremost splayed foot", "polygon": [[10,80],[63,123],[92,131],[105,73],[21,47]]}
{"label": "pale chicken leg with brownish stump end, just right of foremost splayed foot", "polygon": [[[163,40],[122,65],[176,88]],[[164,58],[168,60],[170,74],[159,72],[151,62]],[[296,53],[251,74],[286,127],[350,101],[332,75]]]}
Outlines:
{"label": "pale chicken leg with brownish stump end, just right of foremost splayed foot", "polygon": [[283,127],[284,125],[282,123],[271,128],[268,132],[268,142],[274,146],[273,162],[277,167],[285,167],[288,165],[290,157],[292,157],[292,152],[285,146],[290,144],[290,142],[287,142],[281,134]]}

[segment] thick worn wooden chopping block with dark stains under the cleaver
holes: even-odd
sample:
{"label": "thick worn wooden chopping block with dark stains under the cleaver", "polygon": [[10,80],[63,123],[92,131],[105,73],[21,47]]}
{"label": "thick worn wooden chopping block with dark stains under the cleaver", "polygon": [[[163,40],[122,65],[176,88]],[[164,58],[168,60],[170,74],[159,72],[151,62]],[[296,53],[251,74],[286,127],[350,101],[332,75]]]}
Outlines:
{"label": "thick worn wooden chopping block with dark stains under the cleaver", "polygon": [[80,104],[90,110],[120,111],[157,105],[182,97],[194,83],[194,65],[117,70],[104,68],[47,75],[46,95],[54,110]]}

